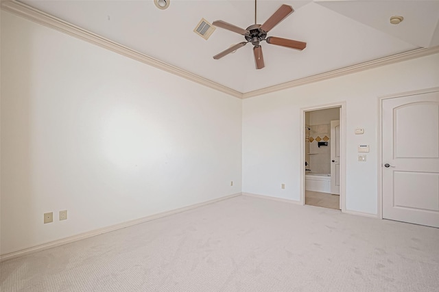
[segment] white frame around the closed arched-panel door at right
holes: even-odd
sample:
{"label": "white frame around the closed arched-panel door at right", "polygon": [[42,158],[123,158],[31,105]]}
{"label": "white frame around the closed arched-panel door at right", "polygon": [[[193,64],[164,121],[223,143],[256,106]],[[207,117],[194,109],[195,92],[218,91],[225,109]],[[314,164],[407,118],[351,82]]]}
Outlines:
{"label": "white frame around the closed arched-panel door at right", "polygon": [[383,101],[385,99],[390,98],[399,98],[404,96],[411,96],[411,95],[418,95],[418,94],[425,94],[429,92],[439,92],[439,87],[436,88],[425,88],[420,90],[413,90],[413,91],[407,91],[407,92],[399,92],[395,94],[388,94],[385,96],[380,96],[378,99],[378,109],[379,109],[379,127],[378,127],[378,218],[383,219]]}

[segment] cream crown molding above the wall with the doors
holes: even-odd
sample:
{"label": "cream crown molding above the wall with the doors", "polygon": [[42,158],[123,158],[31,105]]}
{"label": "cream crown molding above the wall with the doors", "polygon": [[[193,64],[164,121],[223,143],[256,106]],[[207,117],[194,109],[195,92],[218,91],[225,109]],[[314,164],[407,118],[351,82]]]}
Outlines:
{"label": "cream crown molding above the wall with the doors", "polygon": [[253,97],[253,96],[259,96],[262,94],[276,92],[279,90],[294,88],[294,87],[300,86],[300,85],[305,85],[305,84],[314,83],[314,82],[318,82],[318,81],[322,81],[322,80],[327,80],[327,79],[331,79],[331,78],[335,78],[335,77],[340,77],[340,76],[352,74],[354,72],[360,72],[360,71],[364,71],[364,70],[368,70],[368,69],[372,69],[372,68],[377,68],[380,66],[393,64],[393,63],[397,63],[397,62],[402,62],[402,61],[406,61],[409,59],[416,59],[418,57],[432,55],[435,53],[439,53],[439,46],[431,47],[431,48],[415,49],[413,51],[399,53],[396,55],[392,55],[390,57],[383,57],[381,59],[375,59],[375,60],[370,61],[370,62],[364,62],[361,64],[341,68],[338,70],[325,72],[325,73],[322,73],[319,75],[313,75],[310,77],[305,77],[302,79],[297,79],[294,81],[289,81],[289,82],[281,83],[278,85],[273,85],[273,86],[270,86],[268,88],[262,88],[260,90],[246,92],[246,93],[242,94],[242,98],[249,98],[249,97]]}

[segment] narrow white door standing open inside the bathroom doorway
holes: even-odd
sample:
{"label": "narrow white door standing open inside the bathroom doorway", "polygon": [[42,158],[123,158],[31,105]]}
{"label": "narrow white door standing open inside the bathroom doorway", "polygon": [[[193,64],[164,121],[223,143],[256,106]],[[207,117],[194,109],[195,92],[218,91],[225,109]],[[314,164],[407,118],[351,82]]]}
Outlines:
{"label": "narrow white door standing open inside the bathroom doorway", "polygon": [[330,143],[331,143],[331,194],[340,195],[340,120],[331,120]]}

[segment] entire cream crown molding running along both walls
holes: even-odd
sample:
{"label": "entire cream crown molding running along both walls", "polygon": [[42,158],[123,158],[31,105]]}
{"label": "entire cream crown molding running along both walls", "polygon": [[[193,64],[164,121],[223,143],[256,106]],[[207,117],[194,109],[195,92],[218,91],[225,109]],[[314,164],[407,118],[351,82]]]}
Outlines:
{"label": "entire cream crown molding running along both walls", "polygon": [[166,72],[193,81],[195,83],[199,83],[201,85],[207,86],[214,90],[218,90],[219,92],[230,94],[231,96],[235,96],[237,98],[250,98],[262,94],[268,94],[271,92],[286,90],[288,88],[294,88],[300,85],[315,83],[318,81],[323,81],[335,77],[348,75],[354,72],[360,72],[372,68],[377,68],[379,66],[402,62],[409,59],[416,59],[418,57],[432,55],[434,53],[439,53],[439,46],[416,49],[413,51],[392,55],[390,57],[383,57],[380,59],[375,59],[370,62],[364,62],[354,66],[349,66],[349,67],[333,70],[330,72],[325,72],[319,75],[313,75],[302,79],[296,79],[278,85],[269,86],[267,88],[261,88],[259,90],[242,93],[242,92],[238,92],[237,90],[228,88],[224,85],[221,85],[219,83],[215,83],[214,81],[211,81],[209,79],[195,75],[191,72],[187,72],[175,66],[166,64],[165,62],[161,62],[158,59],[154,59],[153,57],[147,56],[143,53],[139,53],[138,51],[134,51],[128,47],[123,46],[122,44],[118,44],[117,42],[113,42],[112,40],[108,40],[97,34],[93,34],[91,31],[87,31],[86,29],[82,29],[81,27],[77,27],[75,25],[72,25],[71,23],[67,23],[66,21],[62,21],[62,19],[60,18],[56,18],[55,16],[51,16],[50,14],[47,14],[45,12],[36,10],[35,8],[30,7],[29,5],[25,5],[16,0],[12,0],[12,1],[0,0],[0,1],[1,1],[1,10],[11,12],[18,16],[26,18],[29,21],[40,23],[41,25],[45,25],[46,27],[50,27],[52,29],[61,31],[64,34],[74,36],[75,38],[79,38],[80,40],[90,42],[91,44],[96,44],[99,47],[103,47],[115,53],[119,53],[120,55],[130,57],[131,59],[135,59],[144,64],[154,66],[155,68],[164,70]]}

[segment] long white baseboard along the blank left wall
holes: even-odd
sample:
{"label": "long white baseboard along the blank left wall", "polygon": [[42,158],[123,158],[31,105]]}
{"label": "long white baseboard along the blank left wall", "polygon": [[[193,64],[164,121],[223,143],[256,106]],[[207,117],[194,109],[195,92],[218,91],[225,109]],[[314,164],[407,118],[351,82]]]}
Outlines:
{"label": "long white baseboard along the blank left wall", "polygon": [[121,229],[121,228],[126,228],[126,227],[137,225],[137,224],[141,224],[141,223],[148,222],[148,221],[151,221],[151,220],[156,220],[158,218],[169,216],[169,215],[174,215],[176,213],[181,213],[181,212],[189,211],[191,209],[195,209],[195,208],[198,208],[198,207],[206,206],[208,204],[213,204],[215,202],[219,202],[219,201],[222,201],[222,200],[227,200],[227,199],[230,199],[230,198],[241,196],[241,194],[242,193],[228,195],[228,196],[224,196],[224,197],[221,197],[221,198],[216,198],[216,199],[213,199],[213,200],[209,200],[209,201],[206,201],[206,202],[200,202],[198,204],[192,204],[192,205],[187,206],[187,207],[182,207],[182,208],[178,208],[178,209],[174,209],[174,210],[170,210],[170,211],[165,211],[165,212],[162,212],[162,213],[157,213],[157,214],[154,214],[154,215],[142,217],[142,218],[139,218],[139,219],[136,219],[136,220],[131,220],[131,221],[128,221],[128,222],[122,222],[122,223],[119,223],[119,224],[116,224],[116,225],[107,226],[107,227],[99,228],[99,229],[96,229],[96,230],[91,230],[91,231],[88,231],[87,233],[82,233],[80,235],[74,235],[72,237],[67,237],[67,238],[64,238],[64,239],[58,239],[56,241],[51,241],[51,242],[44,243],[44,244],[41,244],[41,245],[36,245],[36,246],[34,246],[32,248],[25,248],[24,250],[19,250],[19,251],[16,251],[16,252],[10,252],[8,254],[0,254],[0,263],[3,262],[3,261],[8,261],[8,260],[10,260],[12,258],[18,258],[20,256],[25,256],[27,254],[33,254],[34,252],[40,252],[42,250],[47,250],[49,248],[55,248],[56,246],[60,246],[60,245],[67,244],[67,243],[71,243],[71,242],[78,241],[78,240],[81,240],[81,239],[86,239],[88,237],[93,237],[93,236],[96,236],[96,235],[101,235],[103,233],[109,233],[110,231],[118,230],[118,229]]}

